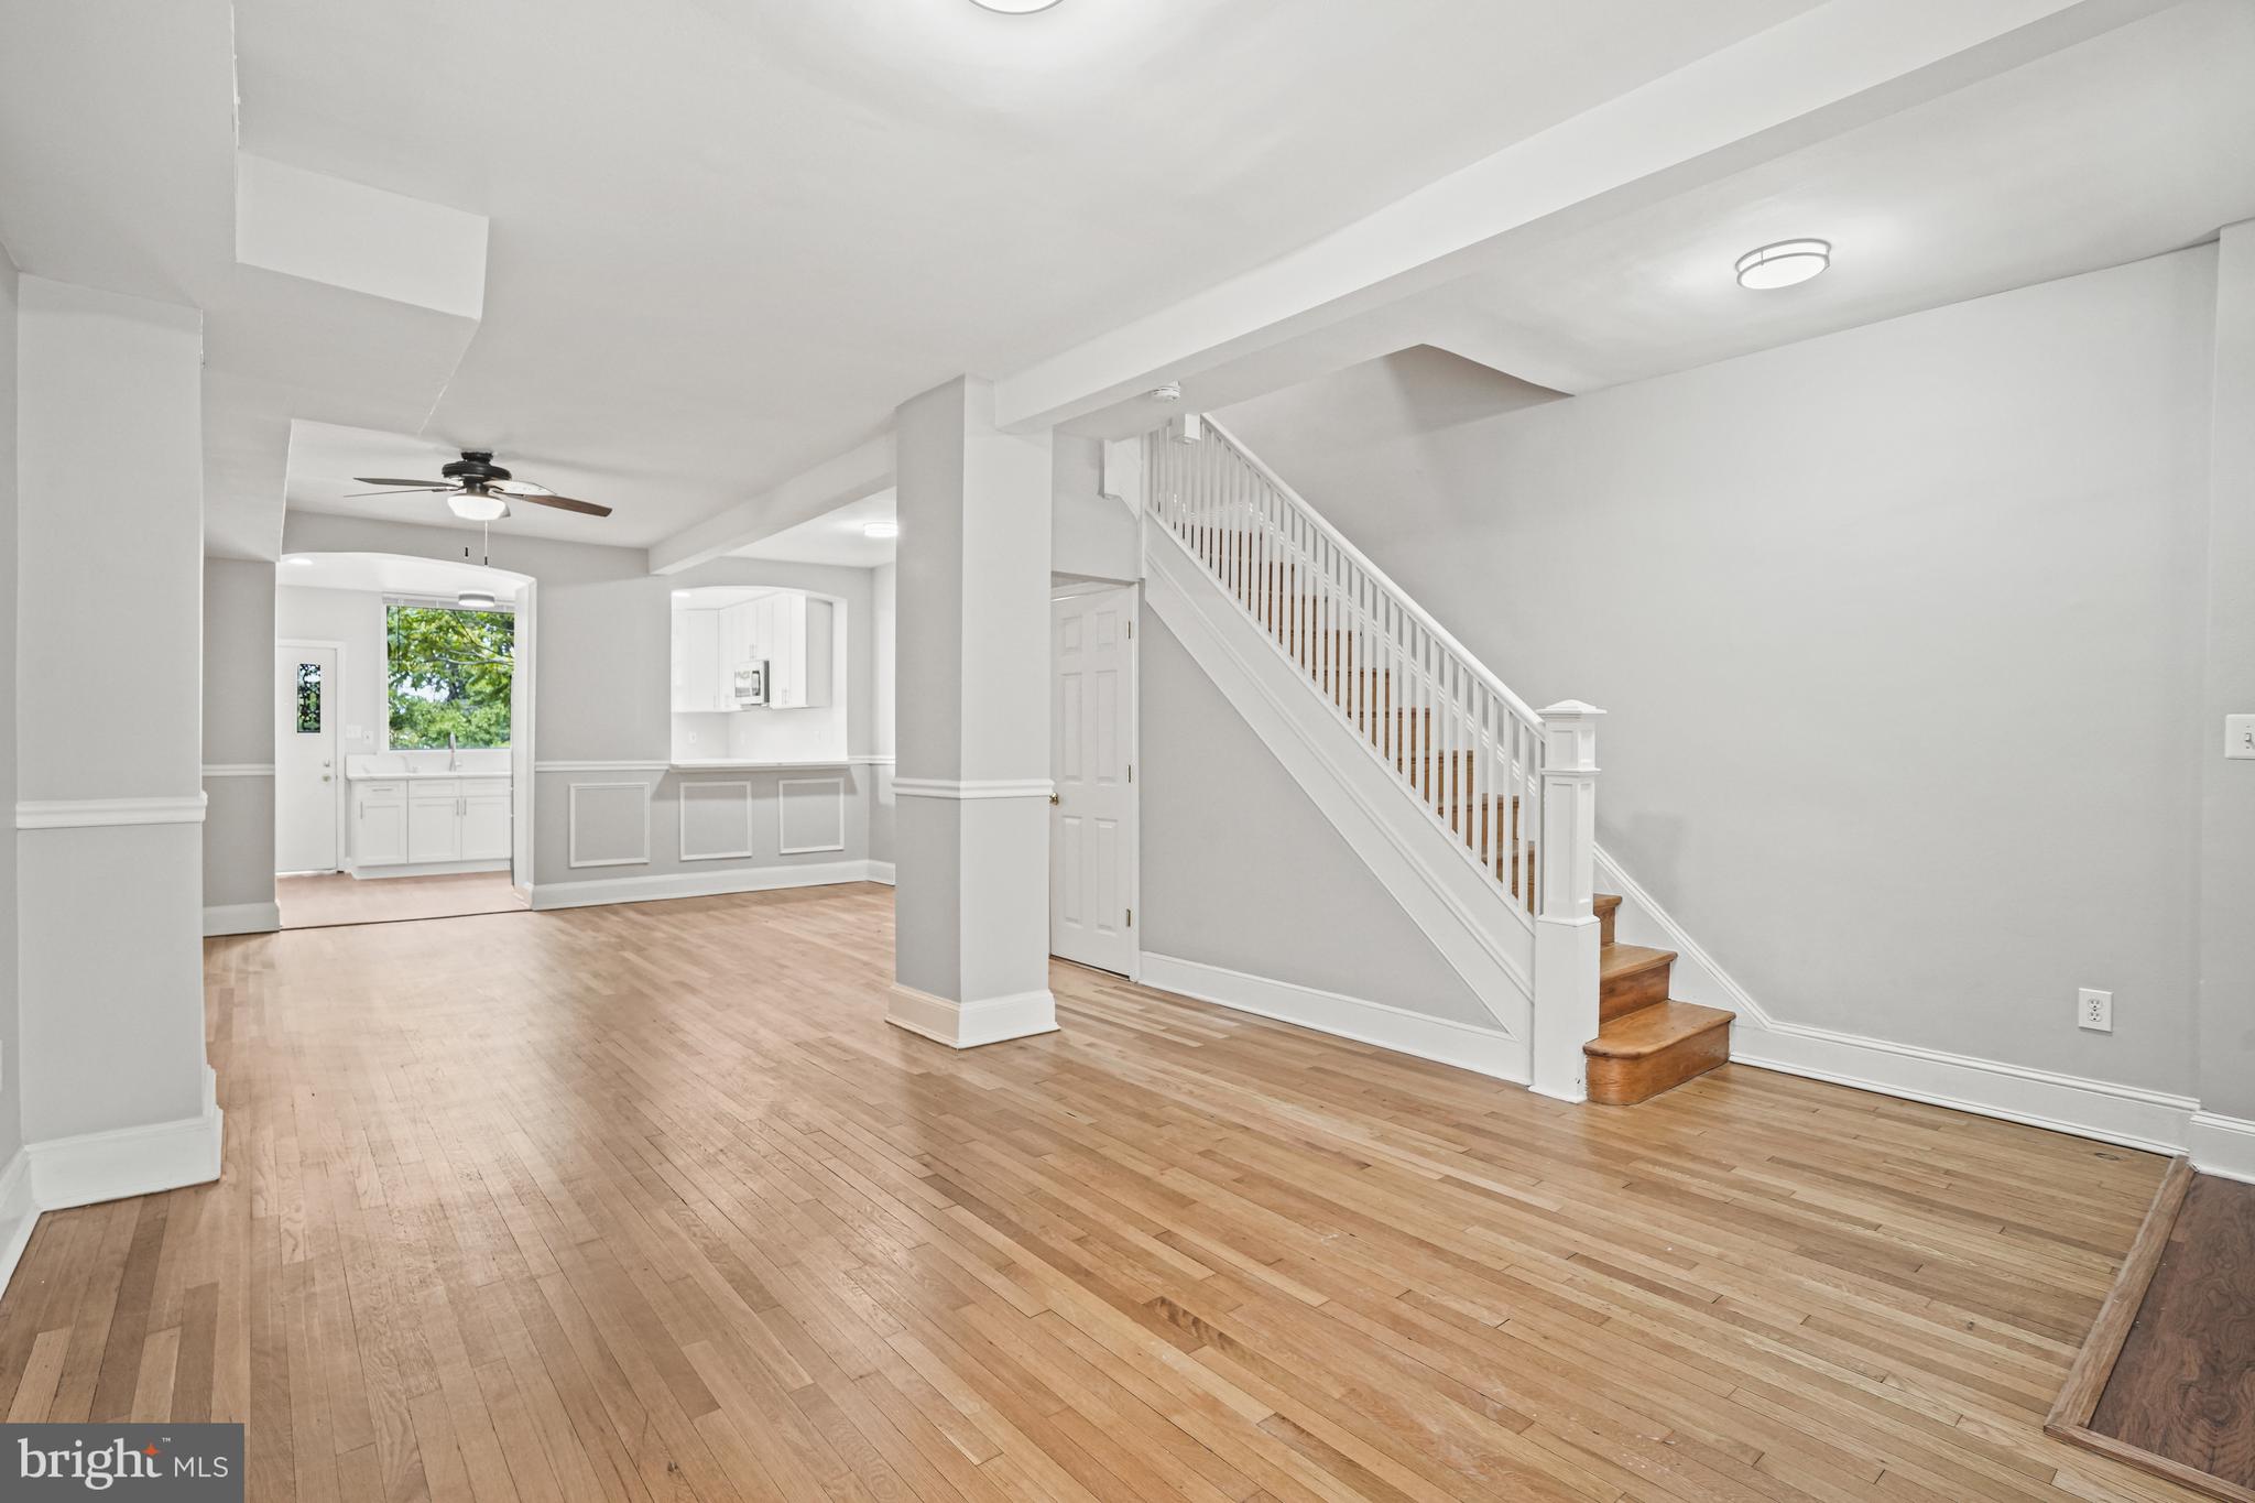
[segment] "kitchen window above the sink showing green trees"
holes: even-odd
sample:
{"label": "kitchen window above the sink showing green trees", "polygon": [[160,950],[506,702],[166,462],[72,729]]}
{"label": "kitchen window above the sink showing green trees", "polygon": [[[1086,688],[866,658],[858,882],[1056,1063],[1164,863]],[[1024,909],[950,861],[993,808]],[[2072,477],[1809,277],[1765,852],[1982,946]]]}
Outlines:
{"label": "kitchen window above the sink showing green trees", "polygon": [[390,683],[390,746],[510,744],[510,681],[516,617],[507,611],[386,606],[383,669]]}

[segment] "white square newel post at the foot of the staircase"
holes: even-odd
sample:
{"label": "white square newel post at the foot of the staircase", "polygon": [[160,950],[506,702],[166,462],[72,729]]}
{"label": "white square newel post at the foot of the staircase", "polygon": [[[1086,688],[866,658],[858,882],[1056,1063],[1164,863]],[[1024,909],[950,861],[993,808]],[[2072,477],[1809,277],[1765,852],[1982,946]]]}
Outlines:
{"label": "white square newel post at the foot of the staircase", "polygon": [[1542,820],[1536,890],[1533,1088],[1588,1097],[1581,1046],[1597,1037],[1597,721],[1567,699],[1542,710]]}

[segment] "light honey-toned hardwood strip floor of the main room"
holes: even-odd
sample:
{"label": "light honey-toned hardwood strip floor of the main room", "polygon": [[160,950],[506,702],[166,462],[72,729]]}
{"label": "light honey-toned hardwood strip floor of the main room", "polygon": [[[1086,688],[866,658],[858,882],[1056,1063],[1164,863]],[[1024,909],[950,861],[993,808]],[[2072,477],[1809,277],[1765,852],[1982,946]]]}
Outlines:
{"label": "light honey-toned hardwood strip floor of the main room", "polygon": [[214,940],[219,1185],[50,1215],[11,1420],[253,1498],[2183,1498],[2045,1406],[2163,1163],[1725,1066],[1635,1111],[1055,969],[884,1023],[891,895]]}

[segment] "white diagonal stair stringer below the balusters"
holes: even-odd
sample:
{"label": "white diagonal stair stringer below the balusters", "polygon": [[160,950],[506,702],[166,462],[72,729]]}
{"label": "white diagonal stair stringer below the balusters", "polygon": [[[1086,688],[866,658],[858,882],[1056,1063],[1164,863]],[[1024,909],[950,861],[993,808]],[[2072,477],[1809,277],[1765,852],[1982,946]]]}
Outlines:
{"label": "white diagonal stair stringer below the balusters", "polygon": [[1143,527],[1143,597],[1308,800],[1385,883],[1511,1041],[1531,1079],[1533,922],[1466,859],[1344,717],[1164,527]]}

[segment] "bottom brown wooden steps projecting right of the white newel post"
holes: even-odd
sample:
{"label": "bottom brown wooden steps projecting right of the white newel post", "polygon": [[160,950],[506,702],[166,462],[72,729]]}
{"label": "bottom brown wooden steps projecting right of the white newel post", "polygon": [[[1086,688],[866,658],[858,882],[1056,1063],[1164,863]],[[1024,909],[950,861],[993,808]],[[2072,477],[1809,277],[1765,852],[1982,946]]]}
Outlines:
{"label": "bottom brown wooden steps projecting right of the white newel post", "polygon": [[1590,1061],[1590,1100],[1633,1106],[1730,1059],[1730,1023],[1721,1007],[1669,996],[1675,951],[1619,944],[1612,919],[1621,899],[1597,895],[1599,949],[1597,1037],[1581,1046]]}

